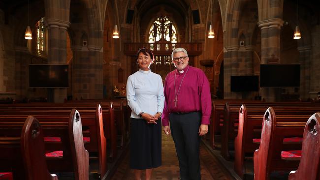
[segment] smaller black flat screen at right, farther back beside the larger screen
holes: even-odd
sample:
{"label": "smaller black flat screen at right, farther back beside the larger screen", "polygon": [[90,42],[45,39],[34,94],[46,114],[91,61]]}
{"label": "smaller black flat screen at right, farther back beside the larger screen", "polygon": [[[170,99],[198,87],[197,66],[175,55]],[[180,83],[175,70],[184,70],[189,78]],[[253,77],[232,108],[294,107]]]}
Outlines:
{"label": "smaller black flat screen at right, farther back beside the larger screen", "polygon": [[231,91],[259,91],[259,76],[231,76]]}

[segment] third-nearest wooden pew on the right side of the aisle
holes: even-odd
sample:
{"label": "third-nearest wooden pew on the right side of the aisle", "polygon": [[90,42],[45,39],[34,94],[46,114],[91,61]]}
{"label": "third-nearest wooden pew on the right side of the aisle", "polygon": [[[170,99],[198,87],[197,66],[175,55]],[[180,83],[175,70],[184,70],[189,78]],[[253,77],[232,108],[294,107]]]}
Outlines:
{"label": "third-nearest wooden pew on the right side of the aisle", "polygon": [[[283,111],[277,115],[278,122],[304,122],[310,115],[291,115],[290,111]],[[246,105],[242,105],[239,110],[239,125],[238,125],[238,135],[234,141],[234,170],[243,178],[245,174],[245,157],[247,153],[254,153],[256,149],[259,148],[259,143],[254,142],[254,138],[260,138],[261,136],[261,124],[262,124],[263,114],[261,115],[248,115]],[[299,138],[295,138],[299,139]],[[302,138],[301,138],[302,139]],[[284,139],[284,149],[292,149],[296,147],[294,142],[290,142],[292,138]],[[301,142],[296,142],[301,144]],[[300,149],[300,147],[299,147]]]}

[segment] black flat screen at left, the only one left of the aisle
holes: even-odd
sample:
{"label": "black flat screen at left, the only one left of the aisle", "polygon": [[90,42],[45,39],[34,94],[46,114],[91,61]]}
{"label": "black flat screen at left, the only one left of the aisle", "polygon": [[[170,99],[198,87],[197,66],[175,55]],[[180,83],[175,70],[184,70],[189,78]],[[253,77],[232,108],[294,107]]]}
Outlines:
{"label": "black flat screen at left, the only one left of the aisle", "polygon": [[67,64],[30,64],[29,87],[67,88],[69,72]]}

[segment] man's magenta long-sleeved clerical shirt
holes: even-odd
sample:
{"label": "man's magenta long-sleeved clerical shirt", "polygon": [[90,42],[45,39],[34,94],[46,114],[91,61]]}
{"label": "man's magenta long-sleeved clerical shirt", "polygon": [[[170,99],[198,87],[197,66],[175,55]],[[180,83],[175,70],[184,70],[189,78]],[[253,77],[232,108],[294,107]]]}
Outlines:
{"label": "man's magenta long-sleeved clerical shirt", "polygon": [[[187,71],[187,69],[189,70]],[[181,88],[177,95],[175,107],[174,76],[176,74],[176,92],[178,93],[183,76]],[[175,112],[201,111],[201,124],[210,124],[211,94],[208,79],[201,69],[186,66],[183,73],[171,71],[164,82],[164,109],[162,113],[162,125],[169,125],[169,114]]]}

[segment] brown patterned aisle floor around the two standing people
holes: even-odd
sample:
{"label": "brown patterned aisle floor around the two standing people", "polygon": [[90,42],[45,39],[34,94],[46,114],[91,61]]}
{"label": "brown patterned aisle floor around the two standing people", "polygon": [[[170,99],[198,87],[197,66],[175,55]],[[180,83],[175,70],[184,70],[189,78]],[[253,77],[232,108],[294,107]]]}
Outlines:
{"label": "brown patterned aisle floor around the two standing people", "polygon": [[[111,180],[134,180],[133,170],[129,168],[129,151]],[[218,159],[201,144],[201,180],[234,180]],[[142,180],[144,179],[144,174]],[[162,132],[162,166],[154,169],[152,180],[179,180],[179,165],[171,136]]]}

